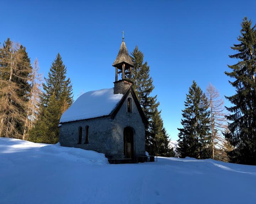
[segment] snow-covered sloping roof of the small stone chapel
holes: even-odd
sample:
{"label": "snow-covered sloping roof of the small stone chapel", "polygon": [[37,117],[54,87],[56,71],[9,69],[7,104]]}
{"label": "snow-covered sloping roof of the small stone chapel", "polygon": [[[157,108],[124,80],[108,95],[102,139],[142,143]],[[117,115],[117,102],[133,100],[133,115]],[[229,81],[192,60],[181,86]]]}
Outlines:
{"label": "snow-covered sloping roof of the small stone chapel", "polygon": [[86,92],[62,114],[60,123],[109,115],[122,97],[114,88]]}

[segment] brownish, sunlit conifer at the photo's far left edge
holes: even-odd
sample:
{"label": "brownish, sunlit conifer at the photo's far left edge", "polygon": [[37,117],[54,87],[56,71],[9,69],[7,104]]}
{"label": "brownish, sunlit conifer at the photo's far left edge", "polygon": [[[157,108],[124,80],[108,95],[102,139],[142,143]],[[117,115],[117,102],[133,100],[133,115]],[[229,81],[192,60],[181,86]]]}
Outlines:
{"label": "brownish, sunlit conifer at the photo's far left edge", "polygon": [[25,47],[9,38],[0,47],[0,136],[22,138],[31,86]]}

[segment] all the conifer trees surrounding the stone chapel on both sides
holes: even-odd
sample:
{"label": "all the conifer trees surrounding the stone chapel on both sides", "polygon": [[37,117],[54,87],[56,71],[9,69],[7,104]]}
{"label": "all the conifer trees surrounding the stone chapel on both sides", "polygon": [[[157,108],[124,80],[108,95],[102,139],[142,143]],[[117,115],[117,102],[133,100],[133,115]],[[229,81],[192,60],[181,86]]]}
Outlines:
{"label": "all the conifer trees surrounding the stone chapel on both sides", "polygon": [[[236,94],[224,101],[211,84],[206,93],[193,81],[182,110],[178,134],[180,157],[212,158],[225,162],[256,164],[256,26],[244,18],[239,44],[230,58],[238,59],[225,72]],[[150,67],[135,47],[131,53],[133,88],[148,119],[145,127],[146,151],[170,157],[169,135],[164,128]],[[0,46],[0,136],[41,143],[57,143],[59,119],[73,103],[71,81],[58,53],[48,77],[39,74],[37,60],[31,64],[26,48],[10,39]]]}

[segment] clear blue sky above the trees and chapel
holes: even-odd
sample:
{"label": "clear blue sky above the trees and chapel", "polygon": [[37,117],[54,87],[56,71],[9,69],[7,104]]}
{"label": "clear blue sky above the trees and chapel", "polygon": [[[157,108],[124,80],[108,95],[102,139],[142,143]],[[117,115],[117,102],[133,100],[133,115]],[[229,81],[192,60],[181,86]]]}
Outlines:
{"label": "clear blue sky above the trees and chapel", "polygon": [[[177,139],[181,110],[195,80],[205,91],[212,83],[224,98],[229,85],[228,55],[247,16],[256,23],[256,1],[1,1],[1,43],[20,42],[47,76],[57,53],[67,67],[74,98],[81,92],[113,87],[122,42],[135,45],[150,66],[162,118]],[[230,103],[226,101],[226,106]]]}

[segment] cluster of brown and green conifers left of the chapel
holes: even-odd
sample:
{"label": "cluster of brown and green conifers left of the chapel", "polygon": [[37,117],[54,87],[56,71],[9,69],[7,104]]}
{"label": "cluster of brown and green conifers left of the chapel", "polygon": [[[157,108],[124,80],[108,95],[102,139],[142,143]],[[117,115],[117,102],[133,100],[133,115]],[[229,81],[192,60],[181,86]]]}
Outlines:
{"label": "cluster of brown and green conifers left of the chapel", "polygon": [[0,137],[57,143],[59,119],[73,103],[72,85],[58,53],[48,78],[39,74],[23,45],[0,46]]}

